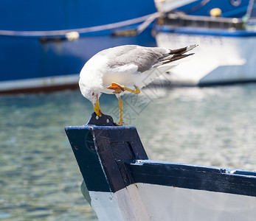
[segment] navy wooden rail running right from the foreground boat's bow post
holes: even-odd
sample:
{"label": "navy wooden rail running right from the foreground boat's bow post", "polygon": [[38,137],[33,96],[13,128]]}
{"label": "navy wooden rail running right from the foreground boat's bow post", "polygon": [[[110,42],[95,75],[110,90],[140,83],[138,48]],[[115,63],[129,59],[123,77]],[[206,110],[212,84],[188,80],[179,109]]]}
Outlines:
{"label": "navy wooden rail running right from the foreground boat's bow post", "polygon": [[[139,161],[128,164],[135,183],[151,183],[256,197],[256,172]],[[234,170],[234,173],[230,173]]]}

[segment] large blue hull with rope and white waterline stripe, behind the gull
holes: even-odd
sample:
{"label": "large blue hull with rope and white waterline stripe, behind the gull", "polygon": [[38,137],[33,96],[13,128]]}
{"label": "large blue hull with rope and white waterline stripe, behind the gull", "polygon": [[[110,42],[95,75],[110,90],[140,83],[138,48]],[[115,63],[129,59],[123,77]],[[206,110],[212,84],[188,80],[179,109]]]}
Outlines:
{"label": "large blue hull with rope and white waterline stripe, behind the gull", "polygon": [[77,87],[80,69],[97,52],[122,44],[156,46],[151,28],[114,35],[136,29],[156,11],[153,1],[4,1],[1,9],[0,93]]}

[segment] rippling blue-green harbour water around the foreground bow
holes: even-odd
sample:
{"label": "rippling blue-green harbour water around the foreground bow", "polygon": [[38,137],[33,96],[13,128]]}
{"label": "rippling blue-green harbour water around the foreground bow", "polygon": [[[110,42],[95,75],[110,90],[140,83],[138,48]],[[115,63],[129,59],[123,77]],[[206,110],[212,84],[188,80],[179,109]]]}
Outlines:
{"label": "rippling blue-green harbour water around the foreground bow", "polygon": [[[148,88],[123,97],[151,159],[256,169],[256,85]],[[100,98],[117,119],[117,99]],[[0,220],[97,220],[63,128],[85,124],[79,91],[0,97]]]}

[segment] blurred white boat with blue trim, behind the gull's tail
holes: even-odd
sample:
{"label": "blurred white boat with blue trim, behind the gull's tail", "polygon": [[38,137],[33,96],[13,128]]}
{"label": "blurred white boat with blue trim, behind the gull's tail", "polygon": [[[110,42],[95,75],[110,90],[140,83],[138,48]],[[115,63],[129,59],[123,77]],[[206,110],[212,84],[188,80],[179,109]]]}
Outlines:
{"label": "blurred white boat with blue trim, behind the gull's tail", "polygon": [[[237,7],[236,10],[217,8],[218,0],[208,2],[215,4],[205,4],[205,10],[201,6],[198,13],[186,13],[189,12],[187,6],[186,10],[172,10],[159,17],[155,29],[158,46],[176,49],[193,43],[199,45],[193,57],[184,60],[162,79],[172,85],[255,82],[255,1],[247,0],[247,5],[237,1],[237,5],[232,6]],[[225,6],[224,1],[221,4]],[[238,11],[240,13],[235,15]],[[207,12],[210,14],[206,15]]]}

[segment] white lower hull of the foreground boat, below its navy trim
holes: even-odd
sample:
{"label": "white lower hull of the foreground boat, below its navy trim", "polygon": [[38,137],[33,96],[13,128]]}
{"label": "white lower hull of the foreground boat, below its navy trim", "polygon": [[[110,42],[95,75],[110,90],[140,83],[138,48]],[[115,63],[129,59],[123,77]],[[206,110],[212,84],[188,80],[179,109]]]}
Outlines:
{"label": "white lower hull of the foreground boat, below its navy trim", "polygon": [[256,197],[136,183],[118,192],[89,192],[99,220],[255,220]]}

